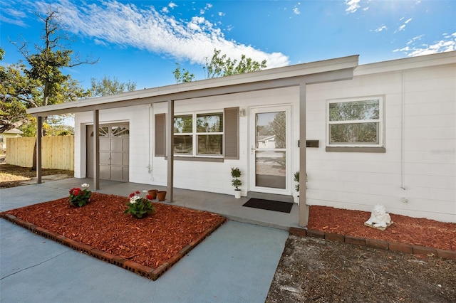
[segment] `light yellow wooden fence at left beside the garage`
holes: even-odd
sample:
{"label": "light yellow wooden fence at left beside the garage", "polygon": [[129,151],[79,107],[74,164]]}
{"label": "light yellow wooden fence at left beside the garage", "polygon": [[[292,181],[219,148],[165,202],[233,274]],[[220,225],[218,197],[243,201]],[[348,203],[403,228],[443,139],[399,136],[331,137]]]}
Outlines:
{"label": "light yellow wooden fence at left beside the garage", "polygon": [[[6,164],[31,167],[36,137],[6,140]],[[43,169],[74,170],[74,136],[43,137],[41,151]]]}

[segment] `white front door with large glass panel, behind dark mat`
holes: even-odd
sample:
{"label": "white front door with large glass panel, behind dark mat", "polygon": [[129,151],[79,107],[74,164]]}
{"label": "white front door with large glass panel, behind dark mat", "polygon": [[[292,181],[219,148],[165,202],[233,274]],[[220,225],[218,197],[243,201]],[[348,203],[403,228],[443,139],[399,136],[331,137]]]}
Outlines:
{"label": "white front door with large glass panel, behind dark mat", "polygon": [[262,107],[251,112],[250,190],[291,194],[290,107]]}

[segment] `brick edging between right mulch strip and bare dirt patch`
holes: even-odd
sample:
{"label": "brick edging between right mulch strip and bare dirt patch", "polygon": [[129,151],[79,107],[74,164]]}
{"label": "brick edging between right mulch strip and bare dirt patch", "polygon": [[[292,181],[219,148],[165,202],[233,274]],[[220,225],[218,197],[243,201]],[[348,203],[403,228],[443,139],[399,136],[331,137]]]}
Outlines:
{"label": "brick edging between right mulch strip and bare dirt patch", "polygon": [[456,260],[456,251],[441,250],[439,248],[428,248],[420,245],[410,245],[406,243],[390,242],[385,240],[375,240],[369,238],[360,238],[353,235],[341,235],[338,233],[326,233],[321,230],[311,230],[305,228],[291,227],[290,235],[298,235],[300,237],[321,238],[330,241],[338,241],[342,243],[363,245],[371,248],[379,248],[382,250],[393,250],[410,254],[434,255],[442,259]]}

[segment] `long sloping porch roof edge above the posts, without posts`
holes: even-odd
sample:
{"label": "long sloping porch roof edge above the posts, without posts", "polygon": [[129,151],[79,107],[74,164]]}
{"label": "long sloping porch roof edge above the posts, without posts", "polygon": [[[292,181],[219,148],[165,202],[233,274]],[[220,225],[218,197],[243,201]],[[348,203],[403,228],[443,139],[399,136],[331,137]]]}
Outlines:
{"label": "long sloping porch roof edge above the posts, without posts", "polygon": [[267,90],[301,84],[324,83],[350,79],[358,66],[359,55],[351,55],[312,63],[271,68],[254,73],[199,80],[162,87],[152,87],[118,95],[93,97],[58,105],[34,107],[27,112],[36,117],[61,115],[69,112],[87,112],[130,105],[142,105],[170,100],[226,95],[237,92]]}

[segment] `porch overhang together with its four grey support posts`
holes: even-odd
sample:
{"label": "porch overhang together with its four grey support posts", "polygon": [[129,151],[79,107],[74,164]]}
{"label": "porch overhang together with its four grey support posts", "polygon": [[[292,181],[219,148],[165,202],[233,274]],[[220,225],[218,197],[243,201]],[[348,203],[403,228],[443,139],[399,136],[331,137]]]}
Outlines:
{"label": "porch overhang together with its four grey support posts", "polygon": [[[299,87],[299,108],[300,108],[300,141],[306,142],[306,85],[316,83],[329,83],[340,80],[350,80],[353,72],[358,67],[358,55],[351,55],[343,58],[316,61],[291,65],[283,68],[271,68],[254,73],[232,75],[223,78],[199,80],[190,83],[154,87],[135,92],[125,92],[118,95],[94,97],[75,102],[66,102],[59,105],[48,105],[28,109],[27,112],[34,117],[47,117],[49,115],[62,115],[76,112],[93,112],[93,123],[98,125],[98,112],[132,105],[149,105],[157,102],[168,102],[167,124],[172,126],[174,119],[174,102],[180,100],[191,100],[199,97],[212,97],[217,95],[229,95],[240,92],[253,92],[259,90],[274,90],[282,87]],[[41,121],[41,119],[38,119]],[[95,133],[95,132],[94,132]],[[167,127],[167,137],[172,138],[172,127]],[[97,138],[93,137],[94,141]],[[37,136],[41,143],[41,136]],[[172,202],[173,189],[173,165],[172,140],[167,140],[168,158],[167,185],[169,199]],[[98,144],[94,142],[94,147]],[[37,144],[37,177],[41,183],[41,144]],[[39,149],[39,150],[38,150]],[[98,153],[95,150],[94,153]],[[306,149],[300,149],[300,171],[306,171]],[[99,158],[95,156],[94,167],[99,166]],[[95,190],[99,188],[99,174],[94,176]],[[306,181],[300,180],[300,206],[299,225],[306,226],[309,218],[309,207],[306,205]]]}

